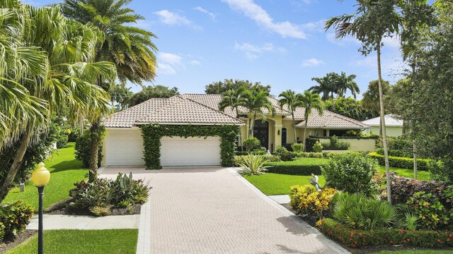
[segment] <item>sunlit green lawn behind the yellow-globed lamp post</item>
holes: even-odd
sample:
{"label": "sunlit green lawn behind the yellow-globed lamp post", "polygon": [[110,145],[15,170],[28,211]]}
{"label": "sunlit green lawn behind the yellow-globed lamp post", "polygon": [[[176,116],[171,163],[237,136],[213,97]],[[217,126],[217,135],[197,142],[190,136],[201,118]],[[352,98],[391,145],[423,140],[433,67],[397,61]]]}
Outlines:
{"label": "sunlit green lawn behind the yellow-globed lamp post", "polygon": [[[81,162],[74,157],[74,143],[59,149],[52,157],[47,159],[45,167],[50,171],[50,181],[44,189],[44,209],[68,198],[68,191],[74,188],[74,183],[84,179],[88,169],[81,169]],[[18,187],[12,188],[4,202],[24,200],[28,204],[38,207],[38,190],[31,181],[25,183],[25,192],[20,192]]]}

